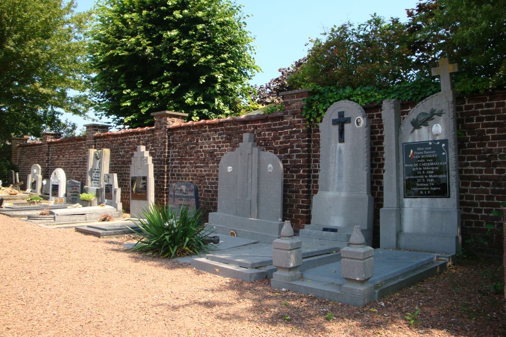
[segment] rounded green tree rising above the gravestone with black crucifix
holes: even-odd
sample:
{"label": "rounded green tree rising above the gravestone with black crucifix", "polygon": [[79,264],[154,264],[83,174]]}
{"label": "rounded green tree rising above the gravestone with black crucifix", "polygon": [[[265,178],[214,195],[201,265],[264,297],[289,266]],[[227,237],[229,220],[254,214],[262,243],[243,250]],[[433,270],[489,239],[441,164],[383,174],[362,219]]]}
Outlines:
{"label": "rounded green tree rising above the gravestone with black crucifix", "polygon": [[414,78],[413,58],[399,19],[386,21],[373,15],[363,24],[348,22],[310,40],[308,60],[289,77],[288,83],[336,87],[384,89]]}

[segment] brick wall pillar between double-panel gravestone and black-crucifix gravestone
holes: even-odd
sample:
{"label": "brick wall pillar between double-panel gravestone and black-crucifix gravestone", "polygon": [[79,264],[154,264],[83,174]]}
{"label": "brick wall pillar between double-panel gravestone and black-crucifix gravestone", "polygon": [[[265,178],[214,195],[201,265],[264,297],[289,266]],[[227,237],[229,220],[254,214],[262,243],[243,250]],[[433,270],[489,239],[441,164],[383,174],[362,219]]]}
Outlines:
{"label": "brick wall pillar between double-panel gravestone and black-crucifix gravestone", "polygon": [[[283,219],[290,220],[294,229],[301,229],[311,222],[313,134],[302,117],[302,100],[309,97],[311,92],[301,89],[280,92],[279,95],[283,97],[284,104],[283,136],[278,154],[285,176]],[[293,194],[288,192],[294,189],[303,197],[297,197],[294,201]]]}

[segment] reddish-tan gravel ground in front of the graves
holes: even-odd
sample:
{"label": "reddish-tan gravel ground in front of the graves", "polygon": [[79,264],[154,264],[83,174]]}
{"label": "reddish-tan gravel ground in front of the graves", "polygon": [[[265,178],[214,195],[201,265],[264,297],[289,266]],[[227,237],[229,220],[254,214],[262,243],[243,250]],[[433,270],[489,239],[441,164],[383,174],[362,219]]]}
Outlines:
{"label": "reddish-tan gravel ground in front of the graves", "polygon": [[[471,260],[363,308],[0,215],[0,336],[504,336],[501,261]],[[406,313],[420,313],[411,325]],[[326,319],[328,318],[328,319]]]}

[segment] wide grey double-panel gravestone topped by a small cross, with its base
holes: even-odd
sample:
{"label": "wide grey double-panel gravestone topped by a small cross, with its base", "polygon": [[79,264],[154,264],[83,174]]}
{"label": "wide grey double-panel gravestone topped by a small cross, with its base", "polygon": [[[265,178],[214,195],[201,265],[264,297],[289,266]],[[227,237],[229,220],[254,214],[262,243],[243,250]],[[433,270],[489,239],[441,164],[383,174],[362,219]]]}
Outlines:
{"label": "wide grey double-panel gravestone topped by a small cross, with its base", "polygon": [[257,148],[252,133],[244,133],[239,148],[220,161],[218,212],[209,214],[208,228],[272,243],[283,227],[282,206],[281,161]]}

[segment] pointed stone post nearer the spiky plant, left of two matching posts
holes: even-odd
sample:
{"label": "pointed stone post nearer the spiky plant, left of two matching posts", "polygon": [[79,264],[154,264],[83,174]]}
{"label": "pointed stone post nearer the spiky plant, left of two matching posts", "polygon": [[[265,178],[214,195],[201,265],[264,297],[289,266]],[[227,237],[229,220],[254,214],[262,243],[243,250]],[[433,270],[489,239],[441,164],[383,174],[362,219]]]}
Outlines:
{"label": "pointed stone post nearer the spiky plant, left of two matching posts", "polygon": [[272,264],[278,268],[272,278],[291,282],[302,278],[299,266],[302,265],[302,241],[293,236],[290,221],[285,221],[281,238],[272,242]]}

